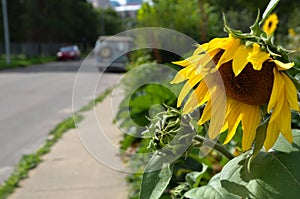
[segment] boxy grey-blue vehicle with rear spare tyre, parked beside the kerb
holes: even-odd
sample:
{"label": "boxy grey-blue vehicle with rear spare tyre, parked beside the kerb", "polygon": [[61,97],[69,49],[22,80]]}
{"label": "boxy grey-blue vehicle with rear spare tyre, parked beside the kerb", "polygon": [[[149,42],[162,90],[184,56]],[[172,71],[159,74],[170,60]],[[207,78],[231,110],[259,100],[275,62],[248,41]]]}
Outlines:
{"label": "boxy grey-blue vehicle with rear spare tyre, parked beside the kerb", "polygon": [[100,36],[95,44],[94,57],[100,71],[126,71],[129,52],[133,47],[131,37]]}

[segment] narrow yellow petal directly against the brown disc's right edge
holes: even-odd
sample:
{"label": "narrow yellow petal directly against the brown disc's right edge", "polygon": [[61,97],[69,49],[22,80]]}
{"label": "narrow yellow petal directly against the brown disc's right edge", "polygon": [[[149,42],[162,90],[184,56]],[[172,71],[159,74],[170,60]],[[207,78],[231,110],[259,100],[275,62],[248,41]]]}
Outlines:
{"label": "narrow yellow petal directly against the brown disc's right edge", "polygon": [[273,74],[274,74],[274,82],[273,82],[271,97],[268,103],[268,113],[270,113],[271,109],[275,106],[275,104],[278,101],[278,98],[281,97],[280,94],[284,89],[284,84],[283,84],[284,80],[281,76],[281,73],[278,72],[276,68],[273,68]]}

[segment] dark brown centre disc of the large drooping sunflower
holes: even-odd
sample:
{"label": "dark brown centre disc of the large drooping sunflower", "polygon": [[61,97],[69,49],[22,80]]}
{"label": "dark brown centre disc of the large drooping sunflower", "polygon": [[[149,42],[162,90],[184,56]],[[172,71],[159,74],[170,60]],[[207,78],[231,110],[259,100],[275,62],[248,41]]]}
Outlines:
{"label": "dark brown centre disc of the large drooping sunflower", "polygon": [[232,61],[219,68],[226,95],[250,105],[268,104],[273,88],[274,63],[264,62],[260,71],[254,70],[248,63],[243,71],[235,77]]}

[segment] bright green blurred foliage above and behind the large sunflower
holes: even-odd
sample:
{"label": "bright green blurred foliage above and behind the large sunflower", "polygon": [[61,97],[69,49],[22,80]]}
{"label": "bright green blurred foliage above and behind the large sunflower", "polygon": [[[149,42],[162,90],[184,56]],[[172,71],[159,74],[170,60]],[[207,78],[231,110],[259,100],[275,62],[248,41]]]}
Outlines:
{"label": "bright green blurred foliage above and behind the large sunflower", "polygon": [[[224,36],[222,13],[228,24],[243,32],[249,31],[258,9],[263,11],[269,1],[230,0],[153,0],[138,12],[139,26],[171,28],[187,34],[200,43]],[[277,35],[285,37],[289,28],[300,26],[300,1],[281,1],[276,8],[279,16]]]}

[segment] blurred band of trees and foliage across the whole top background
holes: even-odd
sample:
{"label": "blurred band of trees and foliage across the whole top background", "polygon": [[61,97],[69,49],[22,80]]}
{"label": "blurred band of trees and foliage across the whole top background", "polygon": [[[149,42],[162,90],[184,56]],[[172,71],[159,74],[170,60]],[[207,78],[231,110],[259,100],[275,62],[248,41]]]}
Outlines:
{"label": "blurred band of trees and foliage across the whole top background", "polygon": [[[264,10],[267,3],[267,0],[152,0],[150,4],[142,4],[136,18],[121,17],[112,8],[94,8],[86,0],[9,0],[7,9],[11,42],[86,43],[93,47],[99,35],[145,26],[170,28],[199,43],[207,42],[225,36],[222,12],[231,27],[247,32],[257,10]],[[276,35],[287,43],[288,30],[300,26],[300,1],[281,1],[276,13],[280,20]],[[3,32],[1,17],[0,43]]]}

